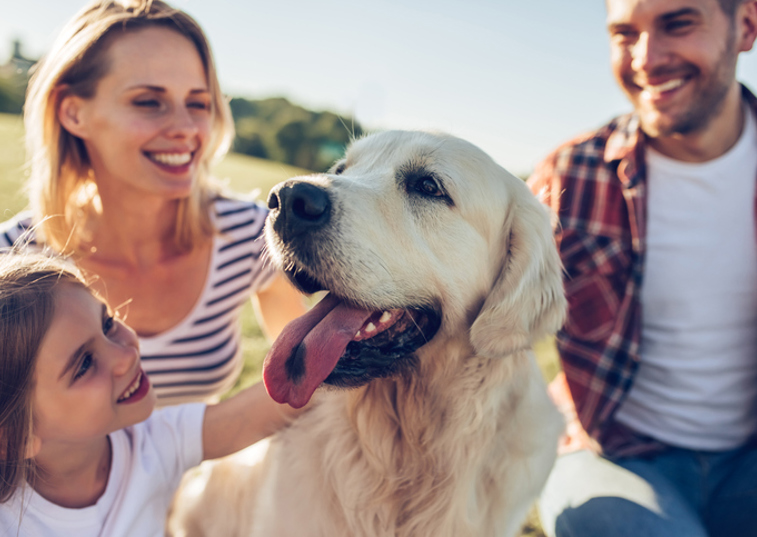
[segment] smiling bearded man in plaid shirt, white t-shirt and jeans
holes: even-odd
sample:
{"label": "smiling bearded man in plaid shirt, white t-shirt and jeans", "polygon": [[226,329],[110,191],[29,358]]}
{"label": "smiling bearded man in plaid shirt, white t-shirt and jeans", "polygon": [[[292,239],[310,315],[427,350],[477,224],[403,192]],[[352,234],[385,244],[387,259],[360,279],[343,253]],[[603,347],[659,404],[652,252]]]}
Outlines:
{"label": "smiling bearded man in plaid shirt, white t-shirt and jeans", "polygon": [[757,536],[757,0],[607,0],[634,113],[529,183],[557,213],[558,536]]}

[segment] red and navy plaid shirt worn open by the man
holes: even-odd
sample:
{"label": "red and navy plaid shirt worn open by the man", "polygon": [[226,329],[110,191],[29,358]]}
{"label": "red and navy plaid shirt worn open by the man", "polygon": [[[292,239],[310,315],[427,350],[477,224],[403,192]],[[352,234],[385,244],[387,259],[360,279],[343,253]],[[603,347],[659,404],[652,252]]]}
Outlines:
{"label": "red and navy plaid shirt worn open by the man", "polygon": [[[757,114],[757,98],[742,90]],[[569,415],[572,398],[573,417],[610,456],[665,448],[613,420],[639,364],[645,145],[638,118],[621,116],[559,147],[529,179],[559,217],[556,238],[566,271],[569,314],[557,335],[565,376],[551,391]]]}

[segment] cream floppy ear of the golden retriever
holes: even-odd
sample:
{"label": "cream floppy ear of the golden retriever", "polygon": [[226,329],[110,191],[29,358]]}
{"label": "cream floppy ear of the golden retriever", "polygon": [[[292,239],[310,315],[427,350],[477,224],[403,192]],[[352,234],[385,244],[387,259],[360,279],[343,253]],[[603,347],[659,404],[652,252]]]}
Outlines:
{"label": "cream floppy ear of the golden retriever", "polygon": [[[548,209],[525,189],[510,206],[502,268],[471,327],[483,356],[504,356],[556,332],[567,301]],[[508,230],[509,229],[509,230]]]}

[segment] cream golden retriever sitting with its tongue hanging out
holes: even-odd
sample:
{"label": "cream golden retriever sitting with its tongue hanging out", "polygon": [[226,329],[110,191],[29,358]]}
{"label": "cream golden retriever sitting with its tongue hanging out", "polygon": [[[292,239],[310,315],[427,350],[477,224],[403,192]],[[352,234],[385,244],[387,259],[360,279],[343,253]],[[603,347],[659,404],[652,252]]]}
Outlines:
{"label": "cream golden retriever sitting with its tongue hanging out", "polygon": [[263,377],[281,403],[318,394],[257,464],[200,470],[174,535],[516,535],[562,430],[531,352],[566,307],[546,208],[470,143],[398,131],[268,205],[272,259],[328,294]]}

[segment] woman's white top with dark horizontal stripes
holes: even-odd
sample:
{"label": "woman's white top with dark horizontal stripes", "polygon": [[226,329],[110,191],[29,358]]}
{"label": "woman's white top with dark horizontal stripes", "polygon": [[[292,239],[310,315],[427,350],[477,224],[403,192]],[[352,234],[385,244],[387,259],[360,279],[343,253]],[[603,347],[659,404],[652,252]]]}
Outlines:
{"label": "woman's white top with dark horizontal stripes", "polygon": [[[252,201],[219,198],[213,211],[218,233],[200,298],[173,328],[139,338],[142,366],[160,405],[207,401],[233,386],[243,361],[241,308],[276,274],[261,255],[267,209]],[[30,224],[29,213],[0,224],[0,248],[16,242]]]}

